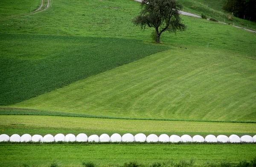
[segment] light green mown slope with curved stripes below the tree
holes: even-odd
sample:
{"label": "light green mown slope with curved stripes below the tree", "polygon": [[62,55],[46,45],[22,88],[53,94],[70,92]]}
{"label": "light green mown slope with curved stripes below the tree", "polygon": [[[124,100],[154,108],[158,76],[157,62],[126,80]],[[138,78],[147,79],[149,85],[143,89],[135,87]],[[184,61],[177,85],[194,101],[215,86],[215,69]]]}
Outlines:
{"label": "light green mown slope with curved stripes below the tree", "polygon": [[127,118],[255,121],[255,63],[230,52],[178,48],[12,107]]}

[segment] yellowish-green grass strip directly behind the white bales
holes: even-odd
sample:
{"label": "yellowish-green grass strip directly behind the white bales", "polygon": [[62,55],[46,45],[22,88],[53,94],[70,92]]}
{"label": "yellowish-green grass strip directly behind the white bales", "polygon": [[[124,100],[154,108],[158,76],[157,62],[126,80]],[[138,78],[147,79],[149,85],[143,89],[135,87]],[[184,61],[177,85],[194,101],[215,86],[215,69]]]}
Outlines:
{"label": "yellowish-green grass strip directly behind the white bales", "polygon": [[0,116],[0,131],[8,135],[29,133],[30,135],[58,134],[58,133],[86,133],[87,135],[101,135],[107,133],[151,133],[160,135],[166,133],[183,135],[189,134],[215,136],[224,134],[230,136],[245,134],[254,136],[256,124],[249,123],[227,123],[227,122],[185,122],[185,121],[154,121],[154,120],[123,120],[123,119],[99,119],[79,118],[64,116]]}

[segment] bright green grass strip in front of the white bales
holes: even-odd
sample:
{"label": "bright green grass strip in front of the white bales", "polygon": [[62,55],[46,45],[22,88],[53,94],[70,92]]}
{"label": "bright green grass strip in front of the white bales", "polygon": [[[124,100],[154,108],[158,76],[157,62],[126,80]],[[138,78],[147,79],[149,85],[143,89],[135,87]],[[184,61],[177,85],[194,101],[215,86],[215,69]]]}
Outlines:
{"label": "bright green grass strip in front of the white bales", "polygon": [[[123,164],[129,161],[153,163],[195,159],[197,164],[216,161],[239,162],[255,157],[255,144],[161,145],[161,144],[0,144],[2,167],[34,165],[49,167],[52,162],[77,167],[84,161],[96,164]],[[239,151],[237,151],[239,150]],[[143,155],[143,156],[141,156]],[[110,165],[111,166],[111,165]]]}

